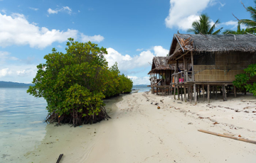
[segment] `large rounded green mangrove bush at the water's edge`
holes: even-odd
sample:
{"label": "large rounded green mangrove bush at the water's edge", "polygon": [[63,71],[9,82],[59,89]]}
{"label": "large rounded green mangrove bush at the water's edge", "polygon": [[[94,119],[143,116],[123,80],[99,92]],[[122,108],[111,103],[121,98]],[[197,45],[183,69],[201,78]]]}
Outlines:
{"label": "large rounded green mangrove bush at the water's edge", "polygon": [[102,99],[119,94],[124,84],[119,84],[117,63],[108,69],[104,47],[90,41],[68,40],[65,54],[53,48],[52,53],[44,57],[46,63],[37,66],[32,82],[35,85],[27,92],[46,99],[49,115],[55,115],[58,122],[68,117],[74,125],[79,125],[82,117],[94,117],[102,112]]}

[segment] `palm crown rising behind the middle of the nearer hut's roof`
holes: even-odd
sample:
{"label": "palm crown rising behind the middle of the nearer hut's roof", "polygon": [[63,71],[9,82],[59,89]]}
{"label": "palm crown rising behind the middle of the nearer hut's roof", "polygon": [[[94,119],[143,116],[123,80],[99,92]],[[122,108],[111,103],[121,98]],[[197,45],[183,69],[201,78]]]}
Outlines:
{"label": "palm crown rising behind the middle of the nearer hut's roof", "polygon": [[201,14],[201,16],[199,16],[199,21],[193,21],[192,23],[192,28],[188,29],[188,33],[195,33],[195,34],[210,34],[210,35],[218,35],[221,30],[223,29],[220,28],[218,30],[216,30],[215,32],[213,32],[213,30],[215,29],[215,26],[217,26],[220,21],[217,20],[213,26],[210,26],[210,17],[207,16],[206,14]]}

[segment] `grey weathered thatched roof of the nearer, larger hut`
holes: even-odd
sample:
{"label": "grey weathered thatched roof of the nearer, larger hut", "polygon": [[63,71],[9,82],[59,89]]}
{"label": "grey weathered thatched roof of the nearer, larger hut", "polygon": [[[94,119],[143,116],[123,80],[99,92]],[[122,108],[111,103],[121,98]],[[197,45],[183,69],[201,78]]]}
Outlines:
{"label": "grey weathered thatched roof of the nearer, larger hut", "polygon": [[[176,50],[177,43],[180,50]],[[169,56],[178,52],[256,52],[256,35],[174,34]]]}

